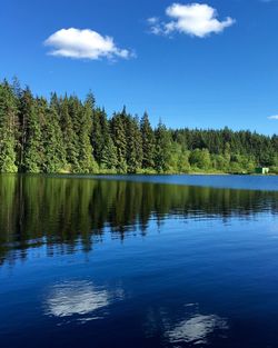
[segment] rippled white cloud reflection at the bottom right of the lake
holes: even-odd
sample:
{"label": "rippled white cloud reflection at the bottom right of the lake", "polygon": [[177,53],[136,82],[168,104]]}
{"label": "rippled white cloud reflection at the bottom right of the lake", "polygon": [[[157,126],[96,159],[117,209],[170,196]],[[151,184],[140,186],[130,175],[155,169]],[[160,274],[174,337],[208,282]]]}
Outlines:
{"label": "rippled white cloud reflection at the bottom right of the lake", "polygon": [[218,316],[196,315],[190,319],[180,321],[172,329],[167,331],[166,336],[171,344],[206,344],[208,335],[212,334],[216,329],[221,330],[227,328],[226,320]]}

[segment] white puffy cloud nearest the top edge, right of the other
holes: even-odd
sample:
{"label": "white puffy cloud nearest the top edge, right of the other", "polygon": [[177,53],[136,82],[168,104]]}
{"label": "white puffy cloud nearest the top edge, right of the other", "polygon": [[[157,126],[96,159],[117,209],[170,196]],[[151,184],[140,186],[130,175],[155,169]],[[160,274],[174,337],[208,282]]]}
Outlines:
{"label": "white puffy cloud nearest the top edge, right of the other", "polygon": [[166,14],[171,19],[168,22],[161,22],[156,17],[148,19],[152,33],[171,34],[177,31],[205,38],[211,33],[219,33],[236,22],[230,17],[222,21],[218,20],[217,10],[206,3],[172,3],[166,9]]}

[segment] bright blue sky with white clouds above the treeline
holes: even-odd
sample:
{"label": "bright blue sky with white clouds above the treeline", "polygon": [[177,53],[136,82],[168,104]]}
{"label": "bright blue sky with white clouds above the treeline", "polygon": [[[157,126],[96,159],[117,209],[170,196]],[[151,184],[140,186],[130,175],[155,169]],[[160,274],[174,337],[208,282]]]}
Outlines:
{"label": "bright blue sky with white clouds above the treeline", "polygon": [[196,2],[1,0],[0,77],[153,125],[278,132],[278,1]]}

